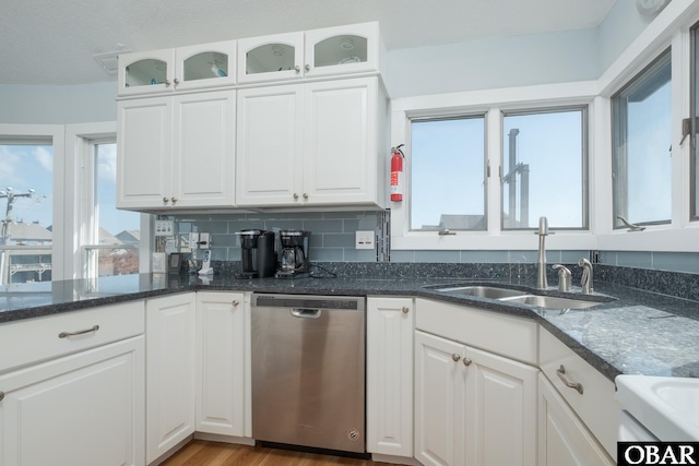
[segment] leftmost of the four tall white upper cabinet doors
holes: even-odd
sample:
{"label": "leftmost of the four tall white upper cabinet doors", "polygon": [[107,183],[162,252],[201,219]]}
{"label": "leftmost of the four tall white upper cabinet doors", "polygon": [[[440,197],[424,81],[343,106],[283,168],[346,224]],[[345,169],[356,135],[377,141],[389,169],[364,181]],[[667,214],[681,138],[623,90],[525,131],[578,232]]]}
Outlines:
{"label": "leftmost of the four tall white upper cabinet doors", "polygon": [[117,207],[169,205],[171,129],[171,97],[118,104]]}

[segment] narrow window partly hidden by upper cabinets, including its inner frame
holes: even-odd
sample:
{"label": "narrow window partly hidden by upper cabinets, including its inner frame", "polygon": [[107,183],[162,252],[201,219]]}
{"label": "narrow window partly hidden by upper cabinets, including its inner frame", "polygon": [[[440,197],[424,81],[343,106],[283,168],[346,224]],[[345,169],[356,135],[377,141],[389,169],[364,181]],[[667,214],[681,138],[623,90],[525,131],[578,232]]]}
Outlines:
{"label": "narrow window partly hidden by upper cabinets, including its inner frame", "polygon": [[90,225],[83,246],[85,276],[138,274],[140,214],[116,208],[117,145],[96,140],[87,147],[85,184],[92,184],[93,195],[84,210]]}

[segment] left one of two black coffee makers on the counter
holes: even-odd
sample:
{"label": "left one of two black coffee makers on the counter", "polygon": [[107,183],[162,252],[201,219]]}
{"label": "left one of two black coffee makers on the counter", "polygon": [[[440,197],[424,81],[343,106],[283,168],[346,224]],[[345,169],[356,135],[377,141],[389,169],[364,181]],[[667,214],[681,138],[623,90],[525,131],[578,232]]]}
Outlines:
{"label": "left one of two black coffee makers on the counter", "polygon": [[271,277],[276,271],[276,252],[274,250],[274,231],[241,230],[240,261],[242,272],[239,278]]}

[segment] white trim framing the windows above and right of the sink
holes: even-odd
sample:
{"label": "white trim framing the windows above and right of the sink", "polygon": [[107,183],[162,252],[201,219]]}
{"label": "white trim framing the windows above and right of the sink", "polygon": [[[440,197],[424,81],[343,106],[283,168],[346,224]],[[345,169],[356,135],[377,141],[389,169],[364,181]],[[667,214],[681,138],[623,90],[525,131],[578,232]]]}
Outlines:
{"label": "white trim framing the windows above and right of the sink", "polygon": [[[510,87],[399,98],[391,101],[391,145],[405,143],[410,170],[410,118],[487,111],[486,151],[490,165],[487,180],[487,231],[410,231],[410,194],[392,202],[393,250],[518,250],[535,249],[531,231],[501,231],[499,167],[501,166],[500,110],[589,104],[588,231],[557,231],[546,240],[548,249],[614,251],[699,251],[699,222],[689,220],[689,144],[678,146],[682,119],[689,117],[689,28],[699,21],[699,2],[674,0],[596,81]],[[612,206],[611,97],[663,50],[672,46],[673,73],[673,211],[670,225],[649,226],[629,234],[614,230]],[[405,192],[410,193],[410,177]]]}

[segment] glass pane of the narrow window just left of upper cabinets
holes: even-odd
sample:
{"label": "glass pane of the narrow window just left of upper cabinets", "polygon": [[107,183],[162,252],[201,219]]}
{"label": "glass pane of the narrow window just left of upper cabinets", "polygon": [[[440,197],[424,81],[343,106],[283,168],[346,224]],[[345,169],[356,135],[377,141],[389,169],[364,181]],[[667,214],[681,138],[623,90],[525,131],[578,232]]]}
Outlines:
{"label": "glass pane of the narrow window just left of upper cabinets", "polygon": [[103,248],[95,248],[91,260],[97,261],[98,276],[139,273],[141,217],[116,208],[116,144],[95,144],[95,224]]}

